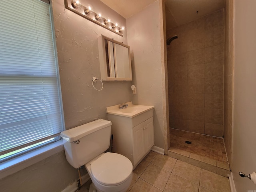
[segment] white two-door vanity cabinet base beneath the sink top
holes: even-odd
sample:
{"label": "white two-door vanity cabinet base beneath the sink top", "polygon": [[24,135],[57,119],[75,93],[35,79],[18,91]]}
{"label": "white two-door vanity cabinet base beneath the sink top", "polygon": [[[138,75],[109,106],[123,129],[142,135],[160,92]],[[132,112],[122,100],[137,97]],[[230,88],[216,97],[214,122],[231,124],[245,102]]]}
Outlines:
{"label": "white two-door vanity cabinet base beneath the sink top", "polygon": [[112,122],[112,152],[126,156],[133,169],[154,146],[153,109],[134,117],[108,114]]}

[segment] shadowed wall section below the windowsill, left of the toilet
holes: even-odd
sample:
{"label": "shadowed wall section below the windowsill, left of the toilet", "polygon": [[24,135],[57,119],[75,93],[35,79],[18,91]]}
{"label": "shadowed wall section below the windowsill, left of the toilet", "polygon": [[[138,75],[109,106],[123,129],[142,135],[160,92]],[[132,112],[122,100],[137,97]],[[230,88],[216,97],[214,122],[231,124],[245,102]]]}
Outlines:
{"label": "shadowed wall section below the windowsill, left of the toilet", "polygon": [[2,192],[60,192],[78,177],[62,151],[1,179],[0,188]]}

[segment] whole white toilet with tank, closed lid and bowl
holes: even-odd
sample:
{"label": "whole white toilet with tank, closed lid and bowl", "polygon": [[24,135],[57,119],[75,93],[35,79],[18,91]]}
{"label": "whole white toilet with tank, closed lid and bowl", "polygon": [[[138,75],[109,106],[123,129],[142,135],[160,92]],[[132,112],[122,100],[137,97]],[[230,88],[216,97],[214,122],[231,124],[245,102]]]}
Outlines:
{"label": "whole white toilet with tank, closed lid and bowl", "polygon": [[96,121],[61,132],[68,162],[79,168],[85,164],[92,179],[90,191],[126,192],[132,181],[132,163],[117,153],[104,153],[110,146],[112,123]]}

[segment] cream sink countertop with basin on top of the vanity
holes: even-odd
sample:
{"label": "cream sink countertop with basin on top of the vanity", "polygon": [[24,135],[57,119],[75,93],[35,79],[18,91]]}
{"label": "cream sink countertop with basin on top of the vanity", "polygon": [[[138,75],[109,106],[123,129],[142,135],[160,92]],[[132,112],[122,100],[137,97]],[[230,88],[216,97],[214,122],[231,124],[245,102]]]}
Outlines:
{"label": "cream sink countertop with basin on top of the vanity", "polygon": [[133,105],[132,102],[127,102],[126,104],[128,104],[128,107],[123,109],[120,109],[119,105],[107,107],[107,113],[133,118],[154,108],[154,106]]}

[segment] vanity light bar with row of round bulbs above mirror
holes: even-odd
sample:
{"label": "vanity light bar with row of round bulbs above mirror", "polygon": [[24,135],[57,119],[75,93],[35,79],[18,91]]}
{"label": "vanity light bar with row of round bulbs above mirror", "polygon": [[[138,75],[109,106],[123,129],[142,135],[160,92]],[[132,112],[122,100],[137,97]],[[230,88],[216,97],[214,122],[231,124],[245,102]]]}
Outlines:
{"label": "vanity light bar with row of round bulbs above mirror", "polygon": [[65,8],[68,10],[102,26],[103,28],[123,36],[125,27],[120,27],[118,23],[111,22],[110,18],[104,18],[101,13],[94,12],[92,5],[88,4],[87,6],[83,6],[80,0],[64,0],[64,2]]}

